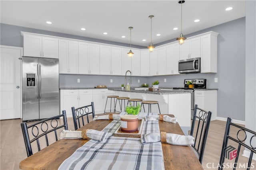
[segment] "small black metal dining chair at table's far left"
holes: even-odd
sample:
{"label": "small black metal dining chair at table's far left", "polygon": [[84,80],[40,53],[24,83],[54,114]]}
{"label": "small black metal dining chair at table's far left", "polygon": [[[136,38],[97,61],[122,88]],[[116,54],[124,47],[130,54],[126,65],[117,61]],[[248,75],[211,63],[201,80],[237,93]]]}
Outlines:
{"label": "small black metal dining chair at table's far left", "polygon": [[94,118],[94,103],[92,102],[90,105],[78,107],[75,109],[75,107],[72,107],[72,115],[73,115],[73,121],[74,121],[74,127],[75,130],[78,129],[81,126],[84,126],[84,116],[87,117],[87,123],[89,123],[89,117],[88,115],[92,114],[92,118]]}

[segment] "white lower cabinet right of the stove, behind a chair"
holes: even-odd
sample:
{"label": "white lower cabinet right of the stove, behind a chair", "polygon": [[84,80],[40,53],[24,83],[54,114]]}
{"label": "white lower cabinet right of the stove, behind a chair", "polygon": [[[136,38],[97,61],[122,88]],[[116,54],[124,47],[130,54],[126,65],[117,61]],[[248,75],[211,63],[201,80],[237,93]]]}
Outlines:
{"label": "white lower cabinet right of the stove, behind a chair", "polygon": [[194,104],[200,109],[212,111],[211,120],[216,120],[217,117],[217,90],[195,90]]}

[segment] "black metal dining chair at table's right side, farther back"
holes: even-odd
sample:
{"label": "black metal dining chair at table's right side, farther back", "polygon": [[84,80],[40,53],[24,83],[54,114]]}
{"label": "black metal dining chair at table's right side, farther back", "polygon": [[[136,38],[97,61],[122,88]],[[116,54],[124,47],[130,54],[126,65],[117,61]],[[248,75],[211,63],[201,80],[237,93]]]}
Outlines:
{"label": "black metal dining chair at table's right side, farther back", "polygon": [[197,104],[195,105],[190,135],[195,138],[192,148],[194,149],[201,164],[204,156],[211,116],[211,111],[200,109]]}

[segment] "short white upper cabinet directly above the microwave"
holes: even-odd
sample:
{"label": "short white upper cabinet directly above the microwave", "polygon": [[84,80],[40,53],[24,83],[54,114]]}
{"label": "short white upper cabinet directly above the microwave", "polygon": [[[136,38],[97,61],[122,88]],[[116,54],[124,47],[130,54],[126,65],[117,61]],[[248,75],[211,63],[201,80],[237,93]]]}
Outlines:
{"label": "short white upper cabinet directly above the microwave", "polygon": [[188,38],[184,44],[180,46],[180,60],[192,59],[201,55],[200,37]]}

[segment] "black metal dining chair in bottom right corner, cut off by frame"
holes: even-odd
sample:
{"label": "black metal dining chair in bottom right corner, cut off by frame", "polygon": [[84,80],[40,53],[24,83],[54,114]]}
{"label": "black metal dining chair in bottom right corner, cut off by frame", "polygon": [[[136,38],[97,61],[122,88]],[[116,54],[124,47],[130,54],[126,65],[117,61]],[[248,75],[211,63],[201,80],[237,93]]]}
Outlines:
{"label": "black metal dining chair in bottom right corner, cut off by frame", "polygon": [[[218,169],[222,170],[225,168],[225,158],[227,159],[228,164],[232,164],[232,168],[239,168],[239,166],[241,166],[239,161],[239,158],[241,158],[241,156],[239,157],[241,149],[246,149],[249,156],[249,158],[247,158],[248,162],[246,163],[244,160],[245,157],[243,152],[243,156],[241,158],[243,159],[242,166],[246,165],[247,170],[250,168],[254,169],[255,163],[252,163],[252,159],[253,156],[256,156],[256,132],[246,127],[232,123],[231,121],[232,118],[228,117]],[[232,134],[230,131],[232,131]]]}

